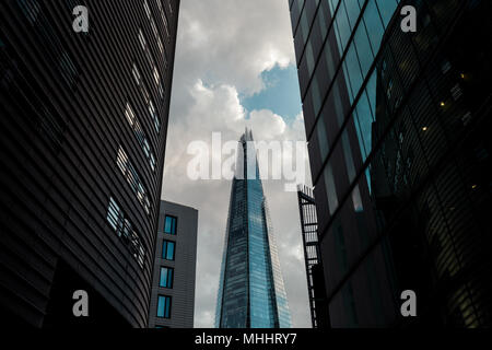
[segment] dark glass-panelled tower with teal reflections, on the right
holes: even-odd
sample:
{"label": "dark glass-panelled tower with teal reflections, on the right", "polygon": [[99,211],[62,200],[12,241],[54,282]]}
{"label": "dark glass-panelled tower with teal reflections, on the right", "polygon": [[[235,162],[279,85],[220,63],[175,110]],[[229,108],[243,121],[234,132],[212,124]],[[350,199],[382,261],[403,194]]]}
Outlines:
{"label": "dark glass-panelled tower with teal reflections, on the right", "polygon": [[491,2],[290,8],[331,326],[490,326]]}

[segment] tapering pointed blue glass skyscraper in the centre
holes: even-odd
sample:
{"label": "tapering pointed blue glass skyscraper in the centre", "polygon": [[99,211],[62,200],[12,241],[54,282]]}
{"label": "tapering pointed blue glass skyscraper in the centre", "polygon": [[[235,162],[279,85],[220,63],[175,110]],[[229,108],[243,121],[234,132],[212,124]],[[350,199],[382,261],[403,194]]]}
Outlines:
{"label": "tapering pointed blue glass skyscraper in the centre", "polygon": [[[231,189],[215,327],[289,328],[289,305],[256,153],[248,156],[256,152],[251,144],[251,131],[246,130]],[[248,159],[255,161],[248,164]]]}

